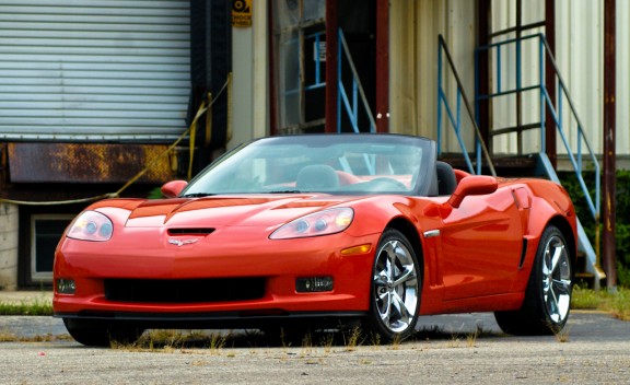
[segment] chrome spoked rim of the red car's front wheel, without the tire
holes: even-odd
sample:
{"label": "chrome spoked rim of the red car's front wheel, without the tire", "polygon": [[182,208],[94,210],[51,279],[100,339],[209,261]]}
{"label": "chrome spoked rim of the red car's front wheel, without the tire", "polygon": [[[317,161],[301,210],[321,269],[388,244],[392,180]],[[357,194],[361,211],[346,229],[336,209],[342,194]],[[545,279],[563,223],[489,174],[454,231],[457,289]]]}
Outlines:
{"label": "chrome spoked rim of the red car's front wheel, without the tire", "polygon": [[406,331],[417,319],[419,288],[415,258],[400,240],[381,245],[374,268],[374,306],[390,332]]}

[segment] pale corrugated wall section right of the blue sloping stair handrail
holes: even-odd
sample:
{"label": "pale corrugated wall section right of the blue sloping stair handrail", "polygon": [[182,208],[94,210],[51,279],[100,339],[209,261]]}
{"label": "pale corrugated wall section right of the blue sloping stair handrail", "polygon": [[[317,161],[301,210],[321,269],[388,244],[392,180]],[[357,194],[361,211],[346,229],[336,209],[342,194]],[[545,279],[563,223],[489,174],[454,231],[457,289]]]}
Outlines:
{"label": "pale corrugated wall section right of the blue sloping stair handrail", "polygon": [[[556,1],[558,62],[590,132],[597,153],[603,152],[604,2]],[[630,156],[630,2],[616,4],[617,153]]]}

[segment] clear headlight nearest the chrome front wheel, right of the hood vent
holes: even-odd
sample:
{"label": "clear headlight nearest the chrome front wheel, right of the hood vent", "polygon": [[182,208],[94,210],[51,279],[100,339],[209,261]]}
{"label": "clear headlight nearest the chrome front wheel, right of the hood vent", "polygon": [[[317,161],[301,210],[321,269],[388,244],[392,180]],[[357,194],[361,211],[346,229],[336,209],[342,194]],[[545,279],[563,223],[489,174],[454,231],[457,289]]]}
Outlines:
{"label": "clear headlight nearest the chrome front wheel, right of the hood vent", "polygon": [[271,233],[269,238],[288,240],[335,234],[348,229],[353,218],[354,211],[350,208],[324,210],[284,224]]}

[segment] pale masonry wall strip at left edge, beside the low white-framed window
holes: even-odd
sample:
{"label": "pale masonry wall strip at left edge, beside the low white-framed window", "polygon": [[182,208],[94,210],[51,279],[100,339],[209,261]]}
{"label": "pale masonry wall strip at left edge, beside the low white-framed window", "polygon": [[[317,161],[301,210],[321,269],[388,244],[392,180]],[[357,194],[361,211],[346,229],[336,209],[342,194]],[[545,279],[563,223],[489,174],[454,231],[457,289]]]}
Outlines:
{"label": "pale masonry wall strip at left edge, beside the low white-framed window", "polygon": [[0,205],[0,290],[18,287],[18,206]]}

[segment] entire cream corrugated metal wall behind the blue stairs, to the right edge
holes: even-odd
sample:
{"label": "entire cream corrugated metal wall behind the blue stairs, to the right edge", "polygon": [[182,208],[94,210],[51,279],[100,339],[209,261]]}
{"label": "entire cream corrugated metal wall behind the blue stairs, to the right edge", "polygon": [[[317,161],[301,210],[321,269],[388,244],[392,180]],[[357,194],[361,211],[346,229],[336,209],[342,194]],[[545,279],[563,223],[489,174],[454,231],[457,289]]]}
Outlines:
{"label": "entire cream corrugated metal wall behind the blue stairs, to the right edge", "polygon": [[[445,36],[468,96],[472,100],[475,3],[457,0],[390,1],[389,126],[393,132],[435,137],[436,52],[440,33]],[[516,1],[493,1],[493,30],[514,25],[515,3]],[[544,0],[528,0],[523,3],[524,24],[544,18]],[[603,12],[602,1],[556,0],[556,58],[587,132],[586,136],[597,153],[603,151]],[[620,158],[630,159],[630,1],[617,0],[616,27],[617,153]],[[542,30],[529,33],[538,32]],[[502,66],[505,66],[503,73],[514,73],[513,60],[506,58]],[[524,71],[537,71],[537,56],[523,66]],[[514,80],[504,79],[504,81]],[[514,108],[508,107],[510,102],[504,102],[505,106],[500,105],[501,102],[498,103],[494,108],[494,128],[509,126],[514,116]],[[525,96],[524,122],[536,121],[538,112],[537,97]],[[567,125],[569,124],[567,121]],[[533,133],[525,138],[525,151],[537,151],[539,140],[535,137]],[[528,138],[530,140],[527,140]],[[471,140],[471,136],[468,140]],[[446,136],[444,150],[458,150],[452,137]],[[495,139],[494,151],[514,152],[514,138]],[[558,152],[563,152],[560,144]]]}

